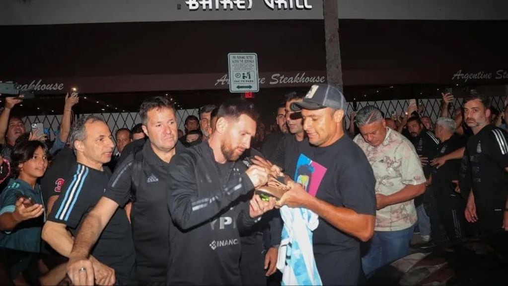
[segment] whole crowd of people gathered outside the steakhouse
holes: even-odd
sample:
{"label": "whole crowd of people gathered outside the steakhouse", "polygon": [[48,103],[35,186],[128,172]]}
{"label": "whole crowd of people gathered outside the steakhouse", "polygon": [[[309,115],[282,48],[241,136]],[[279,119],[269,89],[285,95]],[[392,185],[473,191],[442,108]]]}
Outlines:
{"label": "whole crowd of people gathered outside the steakhouse", "polygon": [[[411,102],[400,117],[365,106],[345,128],[342,92],[316,84],[273,106],[273,127],[237,98],[185,130],[157,96],[113,136],[102,117],[72,122],[71,94],[51,144],[7,97],[0,283],[359,284],[415,234],[505,237],[508,105],[473,93],[451,112],[442,96],[435,123]],[[283,192],[257,191],[270,188]]]}

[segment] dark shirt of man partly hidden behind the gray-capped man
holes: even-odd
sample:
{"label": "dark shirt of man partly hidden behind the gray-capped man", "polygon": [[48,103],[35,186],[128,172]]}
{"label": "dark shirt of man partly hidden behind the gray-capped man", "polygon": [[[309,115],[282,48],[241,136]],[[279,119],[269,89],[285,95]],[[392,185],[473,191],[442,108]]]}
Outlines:
{"label": "dark shirt of man partly hidden behind the gray-capped man", "polygon": [[309,139],[305,137],[302,141],[297,141],[295,135],[284,134],[281,144],[273,155],[274,164],[283,168],[284,174],[295,177],[296,165],[300,154],[311,158],[315,147],[309,144]]}

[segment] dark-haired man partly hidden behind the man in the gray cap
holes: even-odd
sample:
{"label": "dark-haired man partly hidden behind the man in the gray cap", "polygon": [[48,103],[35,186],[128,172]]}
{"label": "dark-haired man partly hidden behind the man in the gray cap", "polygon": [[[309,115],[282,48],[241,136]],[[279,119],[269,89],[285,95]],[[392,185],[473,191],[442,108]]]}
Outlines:
{"label": "dark-haired man partly hidden behind the man in the gray cap", "polygon": [[286,95],[285,101],[285,120],[288,124],[289,134],[285,134],[281,144],[273,155],[273,163],[282,167],[284,174],[294,178],[296,165],[300,154],[311,158],[313,147],[309,144],[309,139],[305,136],[303,130],[303,119],[300,111],[293,111],[291,104],[300,102],[304,95],[291,92]]}

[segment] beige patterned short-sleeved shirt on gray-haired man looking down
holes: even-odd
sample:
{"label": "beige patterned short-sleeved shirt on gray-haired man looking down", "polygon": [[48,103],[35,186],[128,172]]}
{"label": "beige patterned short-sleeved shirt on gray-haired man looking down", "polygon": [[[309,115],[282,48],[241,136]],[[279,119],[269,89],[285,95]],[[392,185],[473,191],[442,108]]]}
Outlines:
{"label": "beige patterned short-sleeved shirt on gray-haired man looking down", "polygon": [[[387,130],[385,140],[377,147],[369,145],[361,134],[354,139],[372,166],[376,178],[376,194],[390,195],[406,185],[425,183],[425,175],[415,147],[402,134],[388,127]],[[400,231],[416,221],[415,204],[411,199],[376,211],[374,230]]]}

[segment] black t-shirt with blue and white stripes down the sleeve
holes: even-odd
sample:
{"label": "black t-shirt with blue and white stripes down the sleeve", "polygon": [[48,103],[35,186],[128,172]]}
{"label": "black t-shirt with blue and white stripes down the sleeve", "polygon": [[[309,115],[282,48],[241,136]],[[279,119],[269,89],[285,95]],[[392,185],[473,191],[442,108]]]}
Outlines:
{"label": "black t-shirt with blue and white stripes down the sleeve", "polygon": [[[48,220],[67,225],[76,237],[84,218],[106,191],[111,173],[107,168],[100,171],[80,163],[71,168],[74,175],[63,184]],[[116,210],[90,254],[115,270],[119,284],[136,281],[136,255],[125,210]]]}

